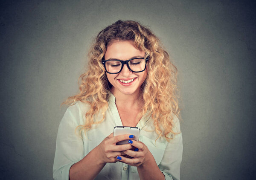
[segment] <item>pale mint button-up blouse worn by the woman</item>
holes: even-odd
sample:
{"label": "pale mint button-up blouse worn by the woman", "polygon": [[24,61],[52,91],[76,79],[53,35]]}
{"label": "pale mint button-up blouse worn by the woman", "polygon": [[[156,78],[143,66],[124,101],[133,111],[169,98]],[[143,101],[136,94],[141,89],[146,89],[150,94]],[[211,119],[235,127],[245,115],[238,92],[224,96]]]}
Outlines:
{"label": "pale mint button-up blouse worn by the woman", "polygon": [[[84,113],[88,109],[89,105],[86,103],[76,102],[75,105],[67,108],[60,122],[53,164],[53,178],[55,180],[69,180],[70,167],[99,145],[105,137],[113,132],[115,126],[122,126],[115,104],[115,96],[111,94],[108,99],[105,120],[99,125],[94,125],[93,128],[86,132],[86,135],[83,133],[83,139],[81,139],[75,134],[75,128],[79,125],[84,125]],[[100,120],[102,116],[98,118]],[[180,123],[176,116],[174,121],[175,127],[173,130],[180,132]],[[140,128],[139,140],[148,147],[166,180],[179,180],[183,151],[181,133],[175,135],[170,142],[167,142],[164,138],[159,138],[155,142],[157,134],[154,131],[153,119],[147,115],[140,119],[137,127]],[[116,162],[107,163],[95,179],[139,180],[140,177],[137,167]]]}

